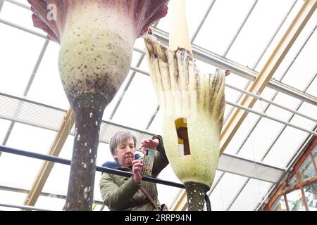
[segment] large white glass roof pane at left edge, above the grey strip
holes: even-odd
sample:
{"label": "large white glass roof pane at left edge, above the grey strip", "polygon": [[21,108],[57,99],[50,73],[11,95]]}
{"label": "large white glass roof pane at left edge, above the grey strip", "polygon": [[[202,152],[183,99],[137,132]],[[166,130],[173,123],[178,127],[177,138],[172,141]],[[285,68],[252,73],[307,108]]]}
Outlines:
{"label": "large white glass roof pane at left edge, above the grey strip", "polygon": [[0,90],[22,95],[39,57],[44,39],[3,23],[0,23],[0,30]]}

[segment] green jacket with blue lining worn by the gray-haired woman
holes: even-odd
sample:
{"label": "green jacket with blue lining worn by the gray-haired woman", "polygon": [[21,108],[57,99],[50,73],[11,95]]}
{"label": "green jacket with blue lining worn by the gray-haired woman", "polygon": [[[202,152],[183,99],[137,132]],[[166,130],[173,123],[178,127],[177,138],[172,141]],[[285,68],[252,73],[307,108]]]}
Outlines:
{"label": "green jacket with blue lining worn by the gray-haired woman", "polygon": [[[157,147],[156,155],[154,159],[154,165],[152,170],[152,176],[158,176],[159,173],[168,165],[168,159],[166,158],[165,150],[163,147],[163,140],[161,136],[154,136],[152,139],[160,139],[159,146]],[[118,162],[106,162],[105,167],[111,169],[120,169],[123,171],[132,172],[132,167],[123,167]],[[158,193],[156,184],[149,181],[141,181],[140,184],[136,184],[135,181],[125,176],[118,176],[114,174],[104,173],[101,176],[99,187],[101,191],[101,197],[104,200],[104,204],[109,210],[127,210],[127,211],[153,211],[156,210],[147,196],[139,189],[143,186],[147,189],[151,197],[157,203],[159,209],[161,205],[158,200]]]}

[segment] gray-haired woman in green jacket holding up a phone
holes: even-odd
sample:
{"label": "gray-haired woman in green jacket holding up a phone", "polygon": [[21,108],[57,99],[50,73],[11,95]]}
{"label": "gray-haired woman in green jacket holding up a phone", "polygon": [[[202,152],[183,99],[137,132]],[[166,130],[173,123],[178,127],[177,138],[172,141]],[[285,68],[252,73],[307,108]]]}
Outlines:
{"label": "gray-haired woman in green jacket holding up a phone", "polygon": [[[111,211],[163,210],[164,205],[159,203],[156,184],[142,181],[143,157],[135,153],[136,144],[137,139],[130,131],[118,131],[110,140],[109,148],[115,162],[105,162],[102,166],[133,172],[130,178],[102,174],[99,182],[101,197]],[[145,148],[154,149],[156,152],[151,174],[156,177],[168,165],[161,136],[143,140],[139,149],[145,153]]]}

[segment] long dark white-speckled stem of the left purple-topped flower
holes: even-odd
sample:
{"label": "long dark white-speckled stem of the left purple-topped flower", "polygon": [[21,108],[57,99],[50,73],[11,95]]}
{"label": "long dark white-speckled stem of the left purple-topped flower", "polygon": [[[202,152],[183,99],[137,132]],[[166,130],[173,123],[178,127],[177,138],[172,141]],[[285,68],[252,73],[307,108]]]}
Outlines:
{"label": "long dark white-speckled stem of the left purple-topped flower", "polygon": [[75,140],[70,165],[66,210],[92,210],[99,131],[107,101],[84,94],[74,103]]}

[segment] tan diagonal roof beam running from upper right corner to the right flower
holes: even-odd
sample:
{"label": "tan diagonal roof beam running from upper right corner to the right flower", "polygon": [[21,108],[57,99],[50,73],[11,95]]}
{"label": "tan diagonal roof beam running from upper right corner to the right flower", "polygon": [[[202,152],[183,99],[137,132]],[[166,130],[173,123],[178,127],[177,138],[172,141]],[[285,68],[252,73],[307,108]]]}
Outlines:
{"label": "tan diagonal roof beam running from upper right corner to the right flower", "polygon": [[[292,24],[273,51],[273,54],[270,58],[268,58],[266,65],[264,65],[263,69],[254,80],[249,92],[261,94],[274,72],[278,69],[282,59],[286,56],[300,32],[302,32],[309,18],[311,18],[311,15],[313,15],[316,6],[317,0],[306,0],[304,2],[302,8],[299,10],[299,13],[297,13],[296,17],[292,21]],[[240,105],[243,105],[245,108],[252,108],[255,103],[256,99],[251,98],[251,96],[244,96],[242,101],[240,101]],[[241,109],[236,109],[232,113],[231,119],[227,122],[227,124],[225,124],[223,132],[220,135],[220,153],[223,153],[225,148],[228,146],[245,117],[247,117],[247,113]]]}

